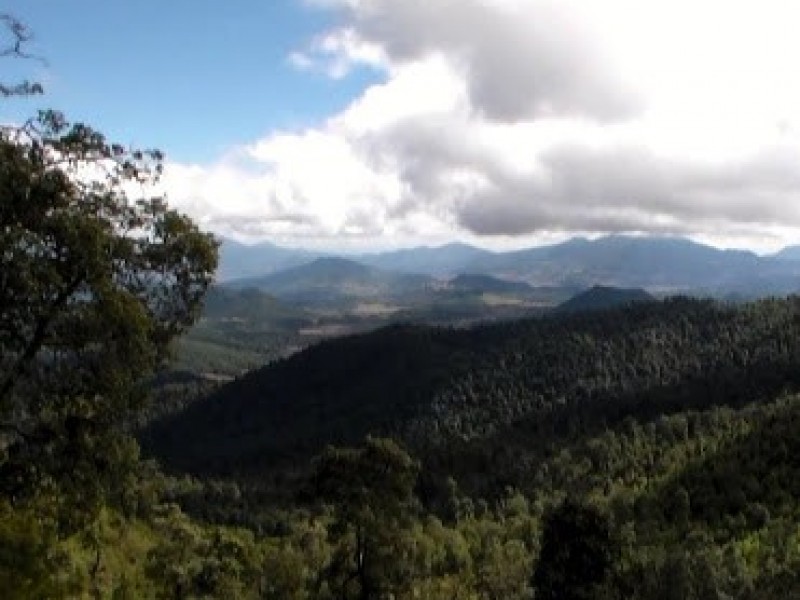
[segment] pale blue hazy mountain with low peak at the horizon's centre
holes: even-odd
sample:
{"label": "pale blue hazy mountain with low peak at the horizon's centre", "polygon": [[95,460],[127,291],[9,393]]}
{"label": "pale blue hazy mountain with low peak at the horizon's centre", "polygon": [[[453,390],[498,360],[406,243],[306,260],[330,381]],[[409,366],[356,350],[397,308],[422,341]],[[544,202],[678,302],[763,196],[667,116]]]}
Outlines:
{"label": "pale blue hazy mountain with low peak at the horizon's centre", "polygon": [[493,253],[488,250],[453,243],[434,248],[420,246],[379,254],[362,254],[357,260],[381,269],[450,277],[464,272],[466,266],[491,256]]}

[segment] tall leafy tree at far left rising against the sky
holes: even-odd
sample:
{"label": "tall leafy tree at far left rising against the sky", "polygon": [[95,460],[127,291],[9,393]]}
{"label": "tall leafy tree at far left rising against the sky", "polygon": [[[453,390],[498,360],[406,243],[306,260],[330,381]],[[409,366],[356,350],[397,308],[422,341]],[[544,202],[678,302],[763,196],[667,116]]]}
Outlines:
{"label": "tall leafy tree at far left rising against the sky", "polygon": [[[0,56],[29,57],[27,28],[0,21]],[[216,268],[213,237],[148,195],[163,159],[56,111],[0,128],[0,496],[50,495],[66,530],[126,481],[142,379]]]}

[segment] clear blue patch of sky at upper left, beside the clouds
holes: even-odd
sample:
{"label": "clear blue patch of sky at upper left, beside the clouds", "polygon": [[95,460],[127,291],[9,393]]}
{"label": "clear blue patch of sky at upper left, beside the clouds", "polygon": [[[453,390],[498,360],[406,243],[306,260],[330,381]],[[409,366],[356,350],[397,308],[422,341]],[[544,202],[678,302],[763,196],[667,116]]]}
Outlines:
{"label": "clear blue patch of sky at upper left, beside the clouds", "polygon": [[208,162],[269,131],[320,122],[377,73],[334,80],[289,60],[336,13],[296,0],[25,0],[8,11],[35,34],[46,66],[27,64],[54,107],[126,143]]}

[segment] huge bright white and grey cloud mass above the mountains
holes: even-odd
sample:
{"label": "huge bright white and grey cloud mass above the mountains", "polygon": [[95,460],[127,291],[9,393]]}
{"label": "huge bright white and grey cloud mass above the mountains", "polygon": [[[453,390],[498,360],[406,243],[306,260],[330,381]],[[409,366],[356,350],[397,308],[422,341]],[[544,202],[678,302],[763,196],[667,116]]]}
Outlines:
{"label": "huge bright white and grey cloud mass above the mountains", "polygon": [[281,240],[800,230],[800,6],[778,0],[314,0],[291,60],[381,69],[340,114],[171,165],[174,202]]}

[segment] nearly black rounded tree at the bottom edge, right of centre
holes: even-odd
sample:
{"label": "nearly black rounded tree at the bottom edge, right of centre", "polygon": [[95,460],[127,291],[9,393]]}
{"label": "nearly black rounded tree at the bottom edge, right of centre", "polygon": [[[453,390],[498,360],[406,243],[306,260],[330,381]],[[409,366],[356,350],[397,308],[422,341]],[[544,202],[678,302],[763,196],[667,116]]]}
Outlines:
{"label": "nearly black rounded tree at the bottom edge, right of centre", "polygon": [[596,508],[564,501],[544,519],[533,576],[536,598],[597,600],[619,554],[608,519]]}

